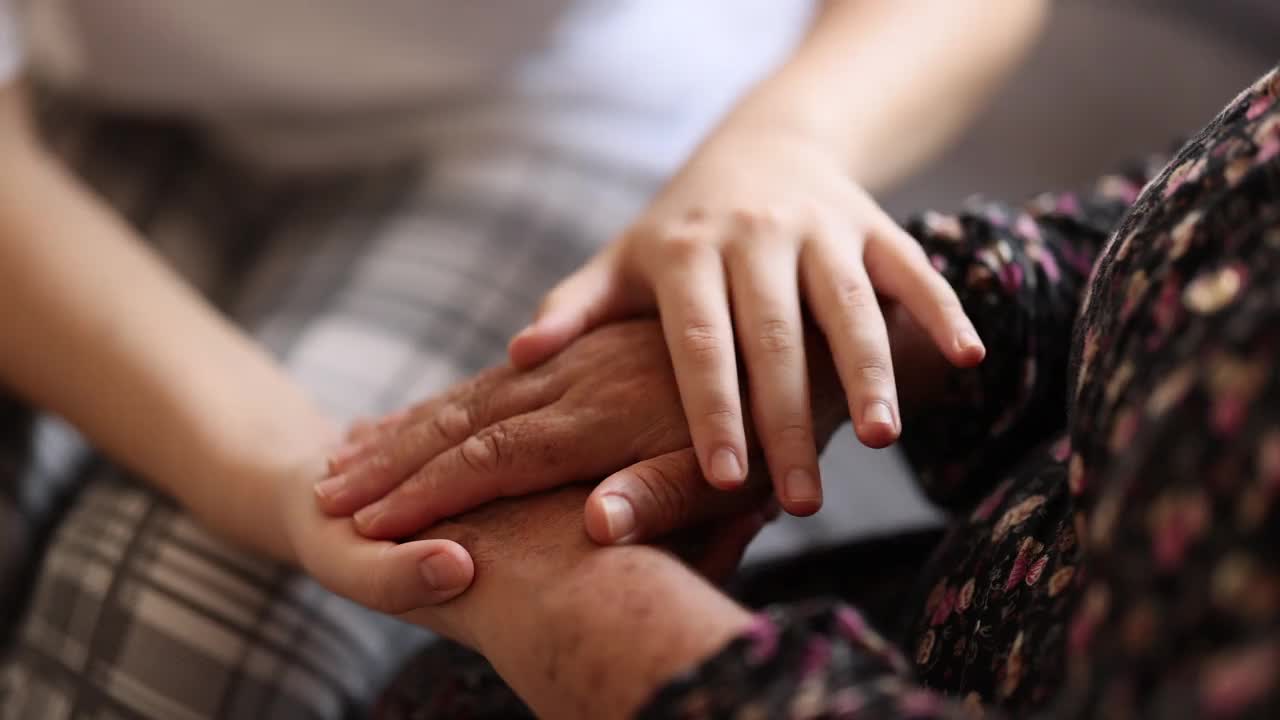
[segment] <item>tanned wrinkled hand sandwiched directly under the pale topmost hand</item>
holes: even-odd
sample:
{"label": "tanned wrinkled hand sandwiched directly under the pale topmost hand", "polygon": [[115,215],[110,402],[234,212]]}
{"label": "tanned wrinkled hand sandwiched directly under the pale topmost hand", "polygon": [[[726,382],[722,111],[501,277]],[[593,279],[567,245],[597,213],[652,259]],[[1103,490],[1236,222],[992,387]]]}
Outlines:
{"label": "tanned wrinkled hand sandwiched directly under the pale topmost hand", "polygon": [[[823,442],[844,409],[829,396]],[[365,428],[316,495],[325,512],[355,514],[362,534],[399,538],[499,497],[609,473],[586,509],[590,537],[605,543],[750,514],[768,496],[763,478],[736,492],[703,479],[654,322],[602,328],[535,369],[489,370]]]}

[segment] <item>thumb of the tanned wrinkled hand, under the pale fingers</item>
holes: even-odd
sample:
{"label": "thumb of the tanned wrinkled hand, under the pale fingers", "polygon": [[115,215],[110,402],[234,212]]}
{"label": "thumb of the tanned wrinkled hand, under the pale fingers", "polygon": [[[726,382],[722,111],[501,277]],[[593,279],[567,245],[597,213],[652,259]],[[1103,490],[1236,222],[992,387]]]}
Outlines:
{"label": "thumb of the tanned wrinkled hand, under the pale fingers", "polygon": [[609,475],[586,501],[586,533],[598,543],[641,542],[705,520],[759,509],[768,482],[722,491],[703,478],[691,447],[636,462]]}

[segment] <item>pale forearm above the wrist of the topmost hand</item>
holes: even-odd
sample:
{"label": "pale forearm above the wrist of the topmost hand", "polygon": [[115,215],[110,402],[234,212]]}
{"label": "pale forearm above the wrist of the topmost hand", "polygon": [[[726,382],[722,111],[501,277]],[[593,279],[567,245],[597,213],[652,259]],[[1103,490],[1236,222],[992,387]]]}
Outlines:
{"label": "pale forearm above the wrist of the topmost hand", "polygon": [[1038,33],[1043,0],[827,0],[790,61],[722,126],[828,145],[878,190],[941,150]]}

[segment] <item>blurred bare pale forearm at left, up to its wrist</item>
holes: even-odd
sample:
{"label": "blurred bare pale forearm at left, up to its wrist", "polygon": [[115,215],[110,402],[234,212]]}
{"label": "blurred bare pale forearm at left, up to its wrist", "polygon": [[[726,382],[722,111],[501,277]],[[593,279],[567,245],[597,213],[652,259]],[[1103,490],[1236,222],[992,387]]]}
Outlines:
{"label": "blurred bare pale forearm at left, up to its wrist", "polygon": [[0,382],[216,529],[284,555],[256,514],[274,502],[256,465],[319,442],[319,414],[38,147],[14,92],[0,102]]}

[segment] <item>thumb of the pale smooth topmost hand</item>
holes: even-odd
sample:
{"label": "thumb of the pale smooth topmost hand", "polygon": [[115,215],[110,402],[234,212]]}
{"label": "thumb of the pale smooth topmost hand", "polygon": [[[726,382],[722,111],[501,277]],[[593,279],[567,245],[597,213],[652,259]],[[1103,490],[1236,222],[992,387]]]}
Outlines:
{"label": "thumb of the pale smooth topmost hand", "polygon": [[611,251],[561,281],[543,299],[532,324],[511,340],[511,364],[520,369],[538,365],[596,325],[623,315],[621,284]]}

